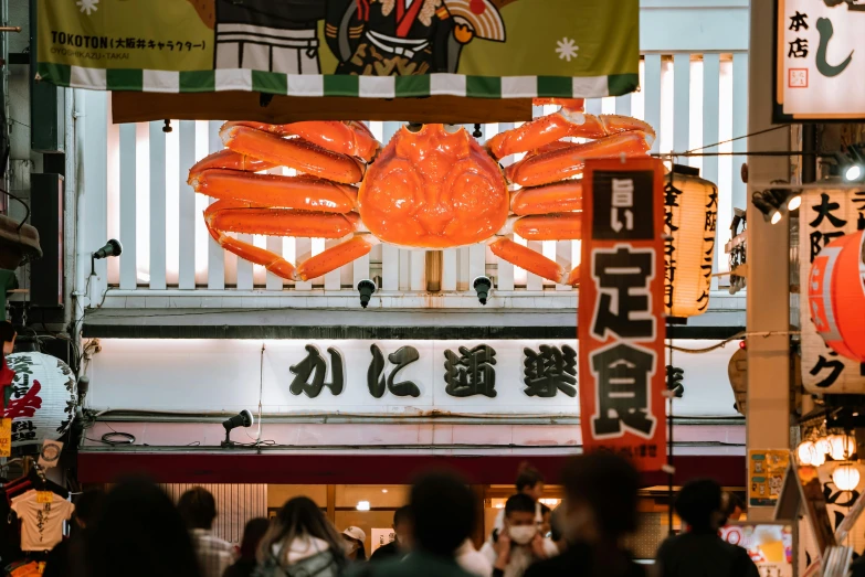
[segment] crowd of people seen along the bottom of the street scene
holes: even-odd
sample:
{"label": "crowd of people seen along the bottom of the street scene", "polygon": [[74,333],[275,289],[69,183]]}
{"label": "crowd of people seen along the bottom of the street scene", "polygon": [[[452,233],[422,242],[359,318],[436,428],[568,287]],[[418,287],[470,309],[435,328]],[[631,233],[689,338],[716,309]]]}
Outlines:
{"label": "crowd of people seen along the bottom of the street scene", "polygon": [[676,500],[687,530],[668,538],[654,566],[634,562],[623,538],[637,527],[640,477],[610,453],[573,457],[562,471],[565,499],[540,503],[542,476],[524,468],[479,549],[471,536],[475,496],[464,479],[431,472],[393,516],[395,539],[368,559],[365,532],[341,533],[306,496],[272,520],[246,523],[240,547],[213,533],[217,503],[203,488],[177,506],[152,483],[127,480],[76,503],[75,531],[49,555],[45,575],[72,577],[757,577],[745,549],[718,528],[731,511],[714,481],[684,487]]}

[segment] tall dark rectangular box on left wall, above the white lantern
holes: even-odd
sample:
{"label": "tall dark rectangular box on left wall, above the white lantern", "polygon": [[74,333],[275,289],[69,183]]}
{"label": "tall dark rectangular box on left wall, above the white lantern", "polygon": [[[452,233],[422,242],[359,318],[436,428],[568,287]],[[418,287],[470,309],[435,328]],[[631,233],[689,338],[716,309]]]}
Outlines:
{"label": "tall dark rectangular box on left wall, above the white lantern", "polygon": [[39,231],[42,258],[30,264],[30,304],[63,306],[63,177],[30,175],[30,224]]}

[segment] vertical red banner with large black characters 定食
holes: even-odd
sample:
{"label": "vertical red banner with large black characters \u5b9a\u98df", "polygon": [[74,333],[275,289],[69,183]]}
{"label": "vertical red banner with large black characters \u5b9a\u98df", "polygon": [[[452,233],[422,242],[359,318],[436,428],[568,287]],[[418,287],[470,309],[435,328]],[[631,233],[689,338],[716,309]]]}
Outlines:
{"label": "vertical red banner with large black characters \u5b9a\u98df", "polygon": [[664,167],[589,160],[583,175],[580,423],[584,451],[665,462]]}

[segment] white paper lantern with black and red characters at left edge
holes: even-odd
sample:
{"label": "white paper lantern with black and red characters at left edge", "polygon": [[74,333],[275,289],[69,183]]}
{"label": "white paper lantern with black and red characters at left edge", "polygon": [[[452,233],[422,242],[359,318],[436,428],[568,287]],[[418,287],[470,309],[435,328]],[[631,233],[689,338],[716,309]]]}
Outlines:
{"label": "white paper lantern with black and red characters at left edge", "polygon": [[56,440],[75,416],[75,376],[66,363],[50,354],[25,352],[6,357],[15,372],[6,387],[6,414],[12,419],[12,448]]}

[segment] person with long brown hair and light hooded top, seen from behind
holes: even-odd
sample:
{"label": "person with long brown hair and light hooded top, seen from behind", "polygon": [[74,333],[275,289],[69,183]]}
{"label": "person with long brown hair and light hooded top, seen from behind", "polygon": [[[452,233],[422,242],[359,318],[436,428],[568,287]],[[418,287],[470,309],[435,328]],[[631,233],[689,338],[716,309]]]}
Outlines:
{"label": "person with long brown hair and light hooded top, seen from behind", "polygon": [[348,566],[346,544],[315,502],[288,500],[259,547],[255,577],[339,577]]}

